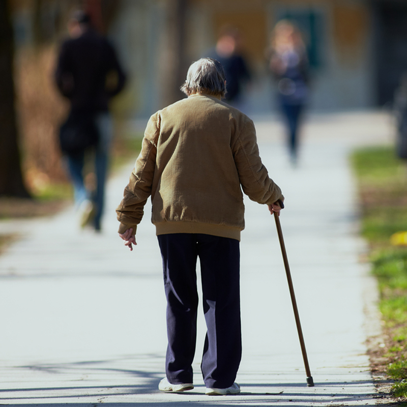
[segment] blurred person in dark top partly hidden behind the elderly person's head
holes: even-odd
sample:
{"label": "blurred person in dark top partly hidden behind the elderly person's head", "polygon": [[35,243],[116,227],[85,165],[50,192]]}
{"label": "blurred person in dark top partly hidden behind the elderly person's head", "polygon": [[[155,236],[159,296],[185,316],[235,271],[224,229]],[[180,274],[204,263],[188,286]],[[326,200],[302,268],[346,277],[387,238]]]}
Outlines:
{"label": "blurred person in dark top partly hidden behind the elderly person's head", "polygon": [[227,86],[224,100],[233,106],[241,102],[243,87],[250,80],[250,71],[239,46],[240,35],[237,28],[223,27],[216,46],[205,55],[222,64]]}

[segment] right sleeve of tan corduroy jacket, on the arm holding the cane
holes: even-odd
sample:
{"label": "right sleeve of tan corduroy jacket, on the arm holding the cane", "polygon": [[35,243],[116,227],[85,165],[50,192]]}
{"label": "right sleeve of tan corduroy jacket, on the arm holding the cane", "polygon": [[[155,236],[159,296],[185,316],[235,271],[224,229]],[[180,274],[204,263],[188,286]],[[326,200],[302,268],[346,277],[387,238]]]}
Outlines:
{"label": "right sleeve of tan corduroy jacket, on the arm holding the cane", "polygon": [[251,120],[244,125],[232,150],[243,192],[251,200],[267,205],[278,199],[284,200],[280,188],[269,178],[267,168],[261,162]]}

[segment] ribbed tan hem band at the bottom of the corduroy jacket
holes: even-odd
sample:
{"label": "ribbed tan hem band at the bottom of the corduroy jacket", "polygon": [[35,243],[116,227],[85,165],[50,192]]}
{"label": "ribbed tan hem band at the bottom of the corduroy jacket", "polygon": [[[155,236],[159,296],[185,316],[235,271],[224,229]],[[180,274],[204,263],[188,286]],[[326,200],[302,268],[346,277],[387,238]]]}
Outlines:
{"label": "ribbed tan hem band at the bottom of the corduroy jacket", "polygon": [[202,233],[204,235],[236,239],[240,242],[241,229],[238,227],[188,221],[160,222],[155,223],[154,225],[156,226],[157,236],[168,235],[171,233]]}

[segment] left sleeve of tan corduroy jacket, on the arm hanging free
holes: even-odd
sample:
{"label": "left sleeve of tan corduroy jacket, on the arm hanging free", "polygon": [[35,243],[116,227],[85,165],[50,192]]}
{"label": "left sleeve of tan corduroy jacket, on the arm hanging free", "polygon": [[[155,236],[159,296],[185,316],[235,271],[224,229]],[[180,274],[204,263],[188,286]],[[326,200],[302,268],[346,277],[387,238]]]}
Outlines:
{"label": "left sleeve of tan corduroy jacket, on the arm hanging free", "polygon": [[119,233],[133,228],[136,233],[147,199],[151,195],[157,156],[157,140],[160,134],[158,112],[153,114],[147,124],[142,141],[141,152],[136,160],[130,181],[124,190],[124,197],[116,209],[120,222]]}

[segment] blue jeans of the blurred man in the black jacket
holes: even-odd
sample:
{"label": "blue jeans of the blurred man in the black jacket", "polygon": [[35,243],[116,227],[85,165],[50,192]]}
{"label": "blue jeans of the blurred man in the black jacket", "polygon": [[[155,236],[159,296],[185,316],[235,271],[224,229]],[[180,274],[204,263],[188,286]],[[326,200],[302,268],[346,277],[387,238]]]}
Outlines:
{"label": "blue jeans of the blurred man in the black jacket", "polygon": [[100,230],[105,200],[105,184],[109,165],[109,150],[113,134],[113,125],[110,114],[104,112],[96,115],[96,125],[99,131],[99,142],[94,152],[96,188],[93,194],[86,189],[83,182],[85,153],[81,152],[68,156],[68,168],[74,187],[75,206],[79,208],[84,200],[92,200],[96,209],[94,227],[96,230]]}

